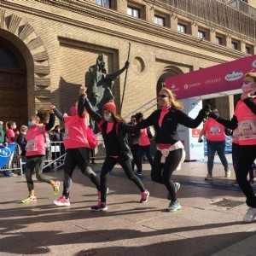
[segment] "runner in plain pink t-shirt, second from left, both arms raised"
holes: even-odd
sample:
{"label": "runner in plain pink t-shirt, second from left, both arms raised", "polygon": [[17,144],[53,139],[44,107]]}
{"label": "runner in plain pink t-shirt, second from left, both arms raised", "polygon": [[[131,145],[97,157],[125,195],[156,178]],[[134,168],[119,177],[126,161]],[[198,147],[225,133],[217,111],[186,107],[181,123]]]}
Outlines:
{"label": "runner in plain pink t-shirt, second from left, both arms raised", "polygon": [[58,119],[65,123],[65,135],[63,143],[66,148],[66,158],[64,162],[64,181],[62,196],[54,201],[56,206],[70,206],[70,190],[72,186],[73,171],[79,166],[84,176],[89,177],[90,181],[95,184],[98,199],[101,198],[100,182],[96,173],[92,171],[88,163],[90,161],[90,145],[87,140],[87,121],[84,113],[84,102],[77,107],[77,104],[70,108],[72,116],[63,115],[58,109],[54,109]]}

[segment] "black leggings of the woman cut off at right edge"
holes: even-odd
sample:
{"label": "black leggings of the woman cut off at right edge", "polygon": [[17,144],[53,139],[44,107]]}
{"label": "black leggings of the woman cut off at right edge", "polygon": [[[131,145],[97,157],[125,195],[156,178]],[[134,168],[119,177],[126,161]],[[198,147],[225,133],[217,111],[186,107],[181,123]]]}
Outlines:
{"label": "black leggings of the woman cut off at right edge", "polygon": [[241,191],[247,197],[247,206],[256,208],[256,196],[253,193],[253,188],[247,181],[247,175],[250,166],[256,159],[256,145],[240,146],[239,158],[237,163],[236,180],[241,188]]}

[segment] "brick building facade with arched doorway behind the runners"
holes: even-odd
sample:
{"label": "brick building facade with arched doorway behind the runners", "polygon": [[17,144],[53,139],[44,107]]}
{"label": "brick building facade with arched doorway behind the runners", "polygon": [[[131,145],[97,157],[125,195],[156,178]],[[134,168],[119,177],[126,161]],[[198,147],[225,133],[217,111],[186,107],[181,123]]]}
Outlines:
{"label": "brick building facade with arched doorway behind the runners", "polygon": [[[152,100],[166,77],[254,54],[255,34],[249,29],[255,26],[255,19],[236,6],[209,0],[211,4],[223,4],[230,17],[241,17],[243,23],[238,19],[237,24],[234,21],[228,28],[222,21],[214,23],[210,19],[218,10],[209,13],[209,20],[189,13],[193,4],[201,1],[190,0],[189,9],[172,2],[178,3],[1,1],[0,119],[26,124],[30,114],[48,108],[50,102],[61,112],[68,112],[98,54],[105,54],[108,73],[113,73],[124,66],[129,43],[131,67],[122,115]],[[125,73],[113,85],[118,108],[124,83]],[[217,98],[211,103],[224,116],[233,114],[234,96]],[[152,109],[148,111],[151,112]]]}

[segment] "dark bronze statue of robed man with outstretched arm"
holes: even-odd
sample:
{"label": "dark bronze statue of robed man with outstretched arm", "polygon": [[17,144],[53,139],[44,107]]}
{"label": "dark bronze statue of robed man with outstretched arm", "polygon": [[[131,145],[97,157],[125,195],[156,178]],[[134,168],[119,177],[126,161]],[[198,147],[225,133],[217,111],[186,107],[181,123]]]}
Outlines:
{"label": "dark bronze statue of robed man with outstretched arm", "polygon": [[125,62],[125,67],[115,73],[108,74],[105,69],[104,54],[99,54],[96,59],[96,65],[90,66],[90,84],[87,95],[90,103],[96,108],[98,113],[102,114],[102,107],[105,103],[114,99],[113,80],[117,79],[121,73],[129,67],[129,61]]}

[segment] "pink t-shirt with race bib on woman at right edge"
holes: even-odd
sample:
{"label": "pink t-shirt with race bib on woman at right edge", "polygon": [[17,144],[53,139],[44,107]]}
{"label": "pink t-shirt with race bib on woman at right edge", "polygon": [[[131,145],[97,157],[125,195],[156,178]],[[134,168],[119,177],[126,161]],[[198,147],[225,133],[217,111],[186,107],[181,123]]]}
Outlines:
{"label": "pink t-shirt with race bib on woman at right edge", "polygon": [[[256,98],[253,102],[256,102]],[[239,145],[255,145],[256,115],[242,101],[237,102],[235,115],[238,120]]]}

